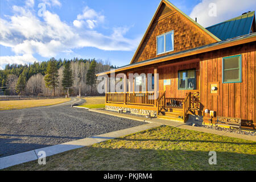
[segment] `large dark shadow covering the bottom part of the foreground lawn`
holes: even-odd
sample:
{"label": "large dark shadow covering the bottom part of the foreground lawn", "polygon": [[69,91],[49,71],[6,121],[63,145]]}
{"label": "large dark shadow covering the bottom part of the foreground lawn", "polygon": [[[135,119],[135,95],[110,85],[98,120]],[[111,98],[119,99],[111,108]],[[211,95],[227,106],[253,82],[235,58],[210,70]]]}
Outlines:
{"label": "large dark shadow covering the bottom part of the foreground lawn", "polygon": [[256,170],[256,156],[217,152],[217,164],[209,164],[209,152],[148,150],[88,146],[49,156],[46,165],[25,163],[6,170]]}

